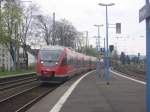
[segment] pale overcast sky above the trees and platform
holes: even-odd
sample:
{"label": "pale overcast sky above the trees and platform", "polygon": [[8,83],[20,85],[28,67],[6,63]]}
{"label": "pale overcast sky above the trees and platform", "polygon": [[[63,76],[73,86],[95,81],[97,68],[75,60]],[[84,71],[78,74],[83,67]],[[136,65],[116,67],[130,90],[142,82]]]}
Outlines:
{"label": "pale overcast sky above the trees and platform", "polygon": [[[109,29],[109,44],[117,46],[119,51],[128,54],[145,54],[145,21],[139,23],[139,9],[145,0],[32,0],[38,4],[45,14],[56,13],[56,20],[65,18],[72,22],[78,31],[89,31],[91,44],[95,44],[93,36],[97,36],[94,24],[104,24],[100,30],[105,37],[105,8],[98,3],[115,3],[108,8],[109,23],[121,22],[122,34],[116,35],[115,29]],[[115,37],[122,37],[116,39]],[[101,39],[101,42],[103,40]],[[103,42],[101,43],[101,45]]]}

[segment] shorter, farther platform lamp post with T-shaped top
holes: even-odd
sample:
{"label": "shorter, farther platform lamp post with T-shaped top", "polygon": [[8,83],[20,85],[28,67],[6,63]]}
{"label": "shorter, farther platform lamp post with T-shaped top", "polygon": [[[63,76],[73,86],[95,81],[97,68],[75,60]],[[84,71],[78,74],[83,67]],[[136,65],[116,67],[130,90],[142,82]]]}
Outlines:
{"label": "shorter, farther platform lamp post with T-shaped top", "polygon": [[99,60],[99,53],[100,51],[100,27],[103,27],[104,25],[94,25],[95,27],[98,28],[98,32],[97,32],[97,41],[96,41],[96,52],[97,52],[97,61],[96,61],[96,75],[97,78],[99,78],[99,74],[100,74],[100,60]]}

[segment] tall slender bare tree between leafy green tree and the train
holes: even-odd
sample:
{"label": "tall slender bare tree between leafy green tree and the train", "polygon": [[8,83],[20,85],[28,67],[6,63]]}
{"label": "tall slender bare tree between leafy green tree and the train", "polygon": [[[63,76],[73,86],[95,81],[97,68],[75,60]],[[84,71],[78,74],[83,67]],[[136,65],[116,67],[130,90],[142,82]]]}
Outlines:
{"label": "tall slender bare tree between leafy green tree and the train", "polygon": [[29,5],[27,8],[22,9],[22,22],[19,26],[20,41],[23,48],[23,57],[25,59],[25,66],[28,68],[28,45],[27,38],[32,38],[32,22],[34,20],[34,14],[38,11],[38,7],[35,4]]}

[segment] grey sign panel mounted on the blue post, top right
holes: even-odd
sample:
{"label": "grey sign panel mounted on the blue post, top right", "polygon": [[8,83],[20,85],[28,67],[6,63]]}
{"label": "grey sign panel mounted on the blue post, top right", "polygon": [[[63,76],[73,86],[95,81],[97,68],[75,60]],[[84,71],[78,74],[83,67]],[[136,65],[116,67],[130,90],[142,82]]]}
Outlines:
{"label": "grey sign panel mounted on the blue post, top right", "polygon": [[150,17],[150,3],[146,4],[139,10],[139,22]]}

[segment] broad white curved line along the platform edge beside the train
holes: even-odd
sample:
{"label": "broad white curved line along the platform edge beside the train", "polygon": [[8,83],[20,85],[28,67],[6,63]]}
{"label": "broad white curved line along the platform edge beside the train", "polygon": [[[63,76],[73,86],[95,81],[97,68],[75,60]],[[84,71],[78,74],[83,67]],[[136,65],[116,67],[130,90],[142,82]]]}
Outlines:
{"label": "broad white curved line along the platform edge beside the train", "polygon": [[58,100],[58,102],[54,105],[54,107],[49,112],[59,112],[61,108],[63,107],[64,103],[67,101],[73,90],[76,88],[76,86],[79,84],[79,82],[86,77],[87,75],[91,74],[95,70],[86,73],[82,77],[80,77],[76,82],[72,84],[72,86],[64,93],[64,95]]}

